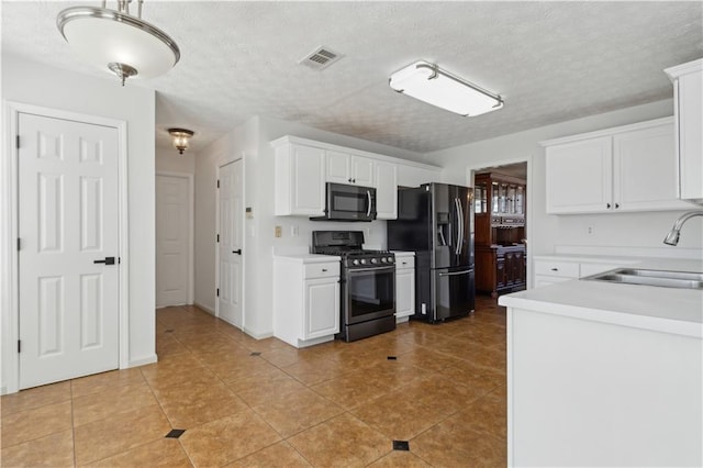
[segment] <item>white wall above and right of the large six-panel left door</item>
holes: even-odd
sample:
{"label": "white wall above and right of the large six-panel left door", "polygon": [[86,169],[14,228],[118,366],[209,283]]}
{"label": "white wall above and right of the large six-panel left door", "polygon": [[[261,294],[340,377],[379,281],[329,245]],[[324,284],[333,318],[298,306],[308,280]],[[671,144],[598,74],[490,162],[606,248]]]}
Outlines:
{"label": "white wall above and right of the large six-panel left door", "polygon": [[[130,365],[154,361],[154,90],[133,82],[122,87],[109,75],[104,79],[96,78],[4,54],[2,99],[127,122],[129,361]],[[7,155],[3,154],[3,157]],[[3,310],[2,313],[11,311]]]}

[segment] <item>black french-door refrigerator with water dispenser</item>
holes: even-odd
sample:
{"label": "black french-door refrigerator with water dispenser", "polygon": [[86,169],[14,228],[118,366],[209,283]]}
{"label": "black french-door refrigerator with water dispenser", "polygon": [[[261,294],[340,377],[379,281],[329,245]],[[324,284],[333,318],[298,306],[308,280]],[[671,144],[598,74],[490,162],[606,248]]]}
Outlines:
{"label": "black french-door refrigerator with water dispenser", "polygon": [[415,314],[431,323],[476,308],[473,190],[425,183],[398,191],[388,248],[415,252]]}

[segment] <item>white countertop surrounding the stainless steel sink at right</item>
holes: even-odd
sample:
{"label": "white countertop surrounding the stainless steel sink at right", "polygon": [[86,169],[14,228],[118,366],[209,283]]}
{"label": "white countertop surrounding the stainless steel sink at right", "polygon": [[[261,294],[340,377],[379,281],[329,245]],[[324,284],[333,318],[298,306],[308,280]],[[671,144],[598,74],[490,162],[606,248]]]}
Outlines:
{"label": "white countertop surrounding the stainless steel sink at right", "polygon": [[[590,256],[549,255],[545,259],[588,261]],[[535,258],[539,258],[535,256]],[[656,270],[703,271],[703,261],[593,256],[593,261]],[[499,304],[576,319],[703,337],[703,291],[604,281],[571,280],[501,296]]]}

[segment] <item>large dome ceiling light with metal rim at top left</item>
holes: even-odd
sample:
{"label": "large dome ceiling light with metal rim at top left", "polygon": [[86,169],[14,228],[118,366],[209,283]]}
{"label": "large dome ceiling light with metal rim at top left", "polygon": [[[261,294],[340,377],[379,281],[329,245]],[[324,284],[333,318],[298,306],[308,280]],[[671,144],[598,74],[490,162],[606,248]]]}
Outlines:
{"label": "large dome ceiling light with metal rim at top left", "polygon": [[180,59],[176,42],[164,31],[142,20],[142,3],[135,0],[137,15],[130,14],[133,0],[116,0],[118,9],[71,7],[56,16],[66,42],[86,62],[110,70],[122,80],[154,78],[170,70]]}

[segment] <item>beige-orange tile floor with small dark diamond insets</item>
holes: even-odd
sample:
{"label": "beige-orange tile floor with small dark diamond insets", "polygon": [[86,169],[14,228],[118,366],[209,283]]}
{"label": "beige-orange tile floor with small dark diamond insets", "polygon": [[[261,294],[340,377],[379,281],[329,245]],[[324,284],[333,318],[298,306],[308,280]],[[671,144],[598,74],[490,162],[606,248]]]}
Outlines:
{"label": "beige-orange tile floor with small dark diamond insets", "polygon": [[0,465],[506,464],[505,312],[490,298],[469,317],[306,349],[193,307],[158,310],[156,328],[157,364],[2,397]]}

